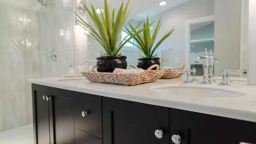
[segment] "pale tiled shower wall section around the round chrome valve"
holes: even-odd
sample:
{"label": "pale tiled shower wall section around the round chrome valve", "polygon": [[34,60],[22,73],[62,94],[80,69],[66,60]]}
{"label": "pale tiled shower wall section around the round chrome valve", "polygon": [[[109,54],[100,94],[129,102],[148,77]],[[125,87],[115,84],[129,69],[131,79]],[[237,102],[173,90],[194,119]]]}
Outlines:
{"label": "pale tiled shower wall section around the round chrome valve", "polygon": [[[52,1],[56,6],[38,11],[41,77],[57,77],[67,74],[70,61],[74,60],[73,12],[68,10],[71,1]],[[61,34],[62,32],[62,34]],[[52,61],[46,55],[57,51],[57,59]]]}

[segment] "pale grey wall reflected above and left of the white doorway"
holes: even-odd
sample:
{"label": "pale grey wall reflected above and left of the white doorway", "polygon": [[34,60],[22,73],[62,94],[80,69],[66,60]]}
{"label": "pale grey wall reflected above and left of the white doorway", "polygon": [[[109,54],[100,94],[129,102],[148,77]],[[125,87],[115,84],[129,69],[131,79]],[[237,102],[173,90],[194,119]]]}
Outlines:
{"label": "pale grey wall reflected above and left of the white doorway", "polygon": [[[167,51],[169,47],[168,65],[172,68],[178,68],[185,63],[185,21],[200,17],[206,17],[214,14],[214,0],[192,0],[173,9],[150,17],[151,21],[158,20],[163,15],[162,27],[159,30],[156,42],[164,36],[167,30],[171,30],[175,26],[173,34],[167,38],[158,50]],[[174,59],[180,58],[179,63],[175,63]]]}

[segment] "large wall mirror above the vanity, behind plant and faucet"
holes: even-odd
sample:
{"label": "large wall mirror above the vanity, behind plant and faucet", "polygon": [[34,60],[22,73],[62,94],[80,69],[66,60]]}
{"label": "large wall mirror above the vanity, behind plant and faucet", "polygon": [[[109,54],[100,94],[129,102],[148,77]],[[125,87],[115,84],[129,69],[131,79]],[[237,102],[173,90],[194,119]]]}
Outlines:
{"label": "large wall mirror above the vanity, behind plant and faucet", "polygon": [[[249,0],[163,1],[166,2],[165,5],[160,4],[162,0],[130,1],[130,17],[125,23],[127,28],[128,22],[137,26],[148,15],[150,22],[156,20],[150,27],[153,34],[157,21],[162,16],[163,22],[156,42],[175,26],[171,36],[155,52],[161,58],[162,68],[178,68],[185,63],[186,68],[196,68],[197,75],[202,76],[202,62],[195,63],[195,58],[203,56],[207,49],[208,54],[211,50],[213,57],[218,59],[218,63],[214,65],[214,76],[221,77],[222,69],[247,69]],[[103,0],[89,0],[89,3],[100,5],[103,9]],[[108,0],[111,7],[117,8],[119,3],[121,1]],[[138,29],[142,27],[141,25]],[[126,33],[122,33],[122,37],[125,35]],[[88,57],[89,60],[94,60],[97,51],[103,52],[103,49],[92,39],[89,38],[88,41]],[[132,44],[126,44],[121,53],[127,56],[128,65],[133,66],[137,66],[137,59],[143,56]],[[246,74],[232,76],[247,81]]]}

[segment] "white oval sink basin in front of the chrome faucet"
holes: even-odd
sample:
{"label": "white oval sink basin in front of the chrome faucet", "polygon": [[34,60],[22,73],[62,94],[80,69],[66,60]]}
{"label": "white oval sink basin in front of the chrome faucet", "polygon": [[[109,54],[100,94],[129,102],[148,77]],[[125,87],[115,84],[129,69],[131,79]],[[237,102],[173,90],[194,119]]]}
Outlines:
{"label": "white oval sink basin in front of the chrome faucet", "polygon": [[157,85],[152,91],[170,95],[202,98],[235,98],[248,95],[246,91],[213,85]]}

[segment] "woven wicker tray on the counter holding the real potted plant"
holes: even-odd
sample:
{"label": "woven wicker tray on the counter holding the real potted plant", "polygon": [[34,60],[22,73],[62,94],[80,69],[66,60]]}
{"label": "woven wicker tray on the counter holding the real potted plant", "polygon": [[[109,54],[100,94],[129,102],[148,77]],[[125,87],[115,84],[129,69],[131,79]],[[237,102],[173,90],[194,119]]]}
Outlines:
{"label": "woven wicker tray on the counter holding the real potted plant", "polygon": [[[95,66],[94,66],[95,67]],[[92,68],[92,70],[94,69]],[[156,67],[156,70],[151,70]],[[137,85],[142,83],[155,82],[163,76],[164,70],[159,70],[159,65],[149,67],[143,73],[137,74],[117,74],[117,73],[99,73],[99,72],[82,72],[90,82],[95,83],[110,83],[121,85]]]}

